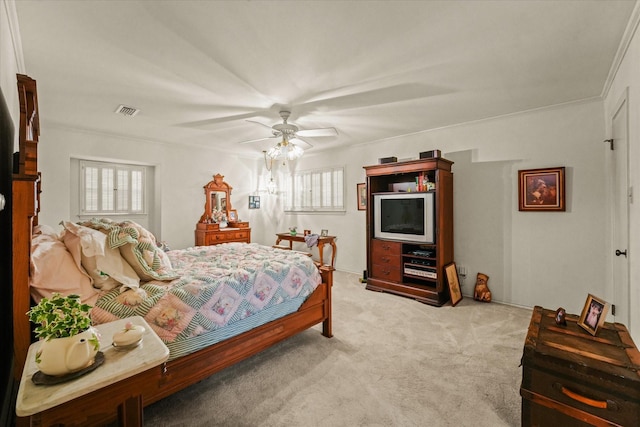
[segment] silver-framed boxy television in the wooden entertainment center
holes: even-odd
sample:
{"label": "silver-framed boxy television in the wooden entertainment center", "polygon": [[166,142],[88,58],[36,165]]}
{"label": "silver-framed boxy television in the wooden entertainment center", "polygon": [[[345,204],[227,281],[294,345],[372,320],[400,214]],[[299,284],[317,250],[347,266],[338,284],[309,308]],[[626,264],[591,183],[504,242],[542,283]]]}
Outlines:
{"label": "silver-framed boxy television in the wooden entertainment center", "polygon": [[435,243],[434,193],[373,195],[373,236],[379,239]]}

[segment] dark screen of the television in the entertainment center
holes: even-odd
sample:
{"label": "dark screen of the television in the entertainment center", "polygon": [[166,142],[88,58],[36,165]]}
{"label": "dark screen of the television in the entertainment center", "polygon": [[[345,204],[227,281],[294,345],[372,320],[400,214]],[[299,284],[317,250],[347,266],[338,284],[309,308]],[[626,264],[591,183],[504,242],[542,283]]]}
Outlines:
{"label": "dark screen of the television in the entertainment center", "polygon": [[380,200],[380,231],[424,235],[424,198]]}

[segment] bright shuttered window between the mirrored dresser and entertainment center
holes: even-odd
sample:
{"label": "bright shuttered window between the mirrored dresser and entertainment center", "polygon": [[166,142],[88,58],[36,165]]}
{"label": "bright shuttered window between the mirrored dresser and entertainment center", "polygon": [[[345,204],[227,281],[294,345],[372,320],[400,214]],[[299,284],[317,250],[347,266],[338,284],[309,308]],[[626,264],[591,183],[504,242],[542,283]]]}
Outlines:
{"label": "bright shuttered window between the mirrored dresser and entertainment center", "polygon": [[294,172],[286,182],[285,211],[344,212],[344,168]]}

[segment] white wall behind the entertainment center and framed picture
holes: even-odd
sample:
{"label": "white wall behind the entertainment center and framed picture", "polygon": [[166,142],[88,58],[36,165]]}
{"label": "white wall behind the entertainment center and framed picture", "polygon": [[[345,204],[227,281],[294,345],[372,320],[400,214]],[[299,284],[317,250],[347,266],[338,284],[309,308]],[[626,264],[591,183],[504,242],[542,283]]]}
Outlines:
{"label": "white wall behind the entertainment center and framed picture", "polygon": [[[467,268],[463,293],[488,274],[494,301],[579,313],[587,293],[606,295],[603,105],[567,104],[303,157],[300,169],[346,165],[344,216],[299,215],[339,236],[338,268],[361,272],[365,217],[356,210],[363,165],[416,158],[430,149],[453,160],[455,261]],[[566,212],[519,212],[519,169],[564,166]],[[316,227],[314,227],[316,228]]]}

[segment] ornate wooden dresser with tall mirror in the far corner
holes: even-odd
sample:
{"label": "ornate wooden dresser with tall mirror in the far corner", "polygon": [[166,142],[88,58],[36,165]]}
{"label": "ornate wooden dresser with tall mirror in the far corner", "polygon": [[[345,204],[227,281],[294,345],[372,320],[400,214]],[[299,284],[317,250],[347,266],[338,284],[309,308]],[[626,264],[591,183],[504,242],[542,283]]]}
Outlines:
{"label": "ornate wooden dresser with tall mirror in the far corner", "polygon": [[[233,188],[224,181],[224,176],[216,174],[204,186],[204,213],[196,224],[196,246],[218,245],[220,243],[251,243],[251,228],[248,222],[238,219],[238,212],[231,205]],[[222,211],[226,222],[214,219],[216,211]]]}

